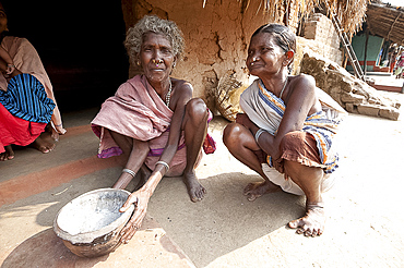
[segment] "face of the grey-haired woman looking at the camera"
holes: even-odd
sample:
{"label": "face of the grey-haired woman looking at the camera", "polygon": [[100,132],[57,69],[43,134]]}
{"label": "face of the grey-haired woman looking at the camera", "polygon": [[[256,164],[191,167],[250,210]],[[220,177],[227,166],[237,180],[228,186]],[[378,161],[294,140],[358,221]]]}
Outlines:
{"label": "face of the grey-haired woman looking at the camera", "polygon": [[143,37],[140,61],[148,82],[168,78],[176,61],[170,41],[164,35],[147,33]]}

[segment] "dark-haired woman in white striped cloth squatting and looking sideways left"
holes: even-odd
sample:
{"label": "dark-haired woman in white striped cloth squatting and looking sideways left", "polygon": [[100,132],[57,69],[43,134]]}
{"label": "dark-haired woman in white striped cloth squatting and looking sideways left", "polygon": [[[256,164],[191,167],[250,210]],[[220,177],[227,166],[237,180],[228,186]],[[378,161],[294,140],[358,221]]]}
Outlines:
{"label": "dark-haired woman in white striped cloth squatting and looking sideways left", "polygon": [[248,199],[277,191],[306,195],[306,215],[289,227],[317,236],[324,231],[322,193],[333,185],[330,174],[338,167],[332,144],[338,113],[345,111],[312,76],[288,75],[295,51],[296,36],[283,25],[266,24],[253,33],[246,63],[258,78],[241,94],[245,113],[226,126],[223,141],[264,180],[245,187]]}

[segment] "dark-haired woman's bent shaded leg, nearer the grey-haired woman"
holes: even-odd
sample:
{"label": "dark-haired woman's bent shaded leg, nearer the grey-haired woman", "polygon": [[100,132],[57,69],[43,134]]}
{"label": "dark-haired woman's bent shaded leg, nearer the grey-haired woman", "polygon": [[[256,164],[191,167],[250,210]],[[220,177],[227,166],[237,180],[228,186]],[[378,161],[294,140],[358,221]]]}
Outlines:
{"label": "dark-haired woman's bent shaded leg, nearer the grey-haired woman", "polygon": [[273,184],[264,174],[261,166],[264,159],[258,158],[262,150],[247,127],[238,123],[228,124],[223,133],[223,142],[235,158],[264,179],[264,182],[249,183],[246,186],[243,194],[248,196],[249,200],[254,200],[268,193],[281,191],[281,187]]}

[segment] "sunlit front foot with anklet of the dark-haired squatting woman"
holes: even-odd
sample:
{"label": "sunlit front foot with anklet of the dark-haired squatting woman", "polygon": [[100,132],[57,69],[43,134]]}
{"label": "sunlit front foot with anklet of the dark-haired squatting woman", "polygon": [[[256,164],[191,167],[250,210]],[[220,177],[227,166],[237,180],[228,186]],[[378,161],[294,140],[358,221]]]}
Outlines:
{"label": "sunlit front foot with anklet of the dark-haired squatting woman", "polygon": [[289,222],[289,227],[297,229],[296,233],[306,236],[321,235],[324,231],[325,214],[324,204],[314,203],[306,205],[306,216]]}

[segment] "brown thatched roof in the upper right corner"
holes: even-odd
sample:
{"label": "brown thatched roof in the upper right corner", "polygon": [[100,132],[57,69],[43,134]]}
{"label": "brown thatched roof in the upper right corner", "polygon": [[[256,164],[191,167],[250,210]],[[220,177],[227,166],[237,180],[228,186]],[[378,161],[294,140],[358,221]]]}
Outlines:
{"label": "brown thatched roof in the upper right corner", "polygon": [[404,9],[385,3],[369,3],[366,23],[371,35],[404,45]]}

